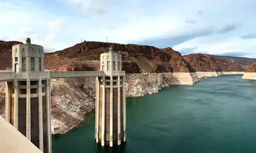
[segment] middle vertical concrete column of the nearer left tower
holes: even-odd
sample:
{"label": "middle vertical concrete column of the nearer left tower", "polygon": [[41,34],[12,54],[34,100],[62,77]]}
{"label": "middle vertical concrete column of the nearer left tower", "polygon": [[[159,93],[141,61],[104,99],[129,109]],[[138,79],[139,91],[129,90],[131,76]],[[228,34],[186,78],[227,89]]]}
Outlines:
{"label": "middle vertical concrete column of the nearer left tower", "polygon": [[26,137],[31,140],[31,121],[30,121],[30,79],[27,78],[27,112],[26,112]]}

